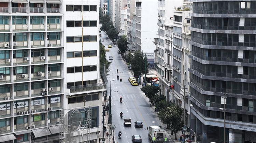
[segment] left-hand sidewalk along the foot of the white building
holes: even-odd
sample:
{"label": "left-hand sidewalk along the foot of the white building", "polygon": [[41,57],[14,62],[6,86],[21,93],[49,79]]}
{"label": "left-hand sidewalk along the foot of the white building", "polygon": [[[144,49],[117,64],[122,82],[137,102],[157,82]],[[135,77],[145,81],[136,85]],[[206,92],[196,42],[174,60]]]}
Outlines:
{"label": "left-hand sidewalk along the foot of the white building", "polygon": [[[104,101],[104,96],[102,97],[102,109],[105,106],[105,101]],[[103,116],[103,112],[101,112],[101,116]],[[111,125],[108,124],[109,122],[109,114],[104,116],[104,126],[106,127],[106,131],[103,135],[103,131],[100,131],[100,137],[105,138],[105,141],[102,143],[114,143],[114,138],[113,138],[113,132],[111,129]],[[106,132],[109,132],[109,137],[106,137]]]}

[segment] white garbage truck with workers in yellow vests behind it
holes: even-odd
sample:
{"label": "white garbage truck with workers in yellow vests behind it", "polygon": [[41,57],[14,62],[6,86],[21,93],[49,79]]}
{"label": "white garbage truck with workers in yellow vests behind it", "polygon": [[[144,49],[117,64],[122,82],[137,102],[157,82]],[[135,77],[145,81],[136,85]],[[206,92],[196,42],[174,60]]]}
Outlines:
{"label": "white garbage truck with workers in yellow vests behind it", "polygon": [[156,143],[164,143],[166,131],[161,126],[148,126],[148,139],[153,143],[153,137],[156,137]]}

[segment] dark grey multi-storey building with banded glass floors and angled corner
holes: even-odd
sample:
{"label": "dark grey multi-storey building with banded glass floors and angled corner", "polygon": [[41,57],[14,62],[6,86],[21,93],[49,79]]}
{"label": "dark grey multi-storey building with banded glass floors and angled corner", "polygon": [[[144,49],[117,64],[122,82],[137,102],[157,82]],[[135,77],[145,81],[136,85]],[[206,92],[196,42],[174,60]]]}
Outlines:
{"label": "dark grey multi-storey building with banded glass floors and angled corner", "polygon": [[192,2],[191,128],[203,142],[256,142],[256,1]]}

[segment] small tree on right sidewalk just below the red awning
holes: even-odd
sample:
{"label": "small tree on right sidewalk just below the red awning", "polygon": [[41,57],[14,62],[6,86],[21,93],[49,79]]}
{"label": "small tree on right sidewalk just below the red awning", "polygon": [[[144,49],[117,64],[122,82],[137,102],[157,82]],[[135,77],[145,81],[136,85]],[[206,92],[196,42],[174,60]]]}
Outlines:
{"label": "small tree on right sidewalk just below the red awning", "polygon": [[160,87],[154,86],[154,85],[146,85],[143,88],[141,88],[141,91],[146,94],[146,96],[150,99],[150,102],[152,102],[152,105],[154,105],[154,96],[159,93]]}

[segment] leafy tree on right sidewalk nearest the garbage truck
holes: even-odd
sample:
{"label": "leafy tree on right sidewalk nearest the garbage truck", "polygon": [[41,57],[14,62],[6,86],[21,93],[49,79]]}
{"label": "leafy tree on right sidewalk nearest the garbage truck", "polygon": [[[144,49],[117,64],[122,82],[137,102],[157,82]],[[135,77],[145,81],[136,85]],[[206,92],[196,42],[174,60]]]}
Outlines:
{"label": "leafy tree on right sidewalk nearest the garbage truck", "polygon": [[159,119],[165,121],[167,128],[174,131],[175,140],[177,140],[177,131],[180,131],[183,127],[183,123],[181,121],[182,113],[182,108],[173,103],[169,107],[161,109],[160,112],[158,112]]}

